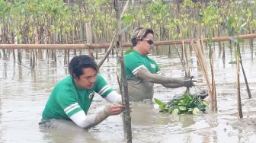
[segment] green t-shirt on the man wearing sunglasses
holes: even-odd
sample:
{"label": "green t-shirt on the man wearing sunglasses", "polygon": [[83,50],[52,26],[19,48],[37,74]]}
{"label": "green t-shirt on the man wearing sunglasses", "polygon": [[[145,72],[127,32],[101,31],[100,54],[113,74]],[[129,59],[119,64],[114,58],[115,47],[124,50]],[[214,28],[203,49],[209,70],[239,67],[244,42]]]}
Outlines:
{"label": "green t-shirt on the man wearing sunglasses", "polygon": [[124,63],[128,80],[133,78],[139,68],[147,68],[152,74],[160,70],[158,64],[153,59],[135,50],[124,56]]}

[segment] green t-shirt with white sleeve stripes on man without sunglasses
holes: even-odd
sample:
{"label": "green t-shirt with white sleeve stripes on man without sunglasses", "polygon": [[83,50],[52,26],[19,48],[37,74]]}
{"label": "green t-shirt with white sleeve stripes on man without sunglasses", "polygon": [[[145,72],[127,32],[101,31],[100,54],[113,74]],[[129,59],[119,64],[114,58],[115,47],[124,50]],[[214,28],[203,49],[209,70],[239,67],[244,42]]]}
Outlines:
{"label": "green t-shirt with white sleeve stripes on man without sunglasses", "polygon": [[43,119],[69,119],[70,116],[84,110],[88,113],[94,93],[101,97],[107,97],[107,94],[113,91],[107,85],[104,78],[98,74],[97,81],[91,89],[78,89],[72,77],[62,79],[56,84],[43,110]]}

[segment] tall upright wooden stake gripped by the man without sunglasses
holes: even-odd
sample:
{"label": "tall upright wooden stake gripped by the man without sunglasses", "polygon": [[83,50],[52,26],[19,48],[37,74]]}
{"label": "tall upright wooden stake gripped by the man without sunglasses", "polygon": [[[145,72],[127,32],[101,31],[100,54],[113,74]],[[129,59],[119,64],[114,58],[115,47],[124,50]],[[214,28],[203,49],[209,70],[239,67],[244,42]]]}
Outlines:
{"label": "tall upright wooden stake gripped by the man without sunglasses", "polygon": [[131,126],[131,117],[130,117],[130,100],[129,100],[129,94],[128,94],[128,83],[126,79],[126,71],[125,66],[123,62],[123,46],[122,46],[122,33],[121,33],[121,19],[120,19],[120,9],[118,5],[118,0],[114,0],[114,10],[117,14],[117,33],[118,33],[118,40],[117,40],[117,47],[119,49],[119,56],[118,59],[121,64],[121,70],[122,70],[122,81],[123,81],[123,100],[125,103],[125,109],[123,110],[123,114],[125,114],[125,122],[123,122],[123,125],[125,125],[126,130],[125,135],[127,138],[127,142],[132,142],[132,126]]}

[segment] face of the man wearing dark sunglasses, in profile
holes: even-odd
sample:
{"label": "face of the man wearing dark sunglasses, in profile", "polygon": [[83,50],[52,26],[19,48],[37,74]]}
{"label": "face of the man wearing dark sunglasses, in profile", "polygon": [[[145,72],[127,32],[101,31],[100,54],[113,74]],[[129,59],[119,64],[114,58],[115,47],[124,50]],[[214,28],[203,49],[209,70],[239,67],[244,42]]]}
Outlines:
{"label": "face of the man wearing dark sunglasses, in profile", "polygon": [[142,41],[140,41],[143,55],[148,55],[150,52],[152,52],[154,46],[154,44],[152,43],[153,39],[153,34],[149,33],[144,39],[142,39]]}

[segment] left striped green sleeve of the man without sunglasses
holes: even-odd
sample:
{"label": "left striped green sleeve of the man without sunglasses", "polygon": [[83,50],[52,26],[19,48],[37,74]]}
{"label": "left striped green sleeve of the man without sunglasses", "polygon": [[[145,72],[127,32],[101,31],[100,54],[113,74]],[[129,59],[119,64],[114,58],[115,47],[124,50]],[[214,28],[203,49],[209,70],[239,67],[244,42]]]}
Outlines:
{"label": "left striped green sleeve of the man without sunglasses", "polygon": [[63,90],[59,92],[56,100],[69,118],[75,113],[78,113],[78,111],[82,110],[77,99],[75,98],[75,94],[72,91]]}

